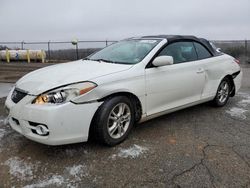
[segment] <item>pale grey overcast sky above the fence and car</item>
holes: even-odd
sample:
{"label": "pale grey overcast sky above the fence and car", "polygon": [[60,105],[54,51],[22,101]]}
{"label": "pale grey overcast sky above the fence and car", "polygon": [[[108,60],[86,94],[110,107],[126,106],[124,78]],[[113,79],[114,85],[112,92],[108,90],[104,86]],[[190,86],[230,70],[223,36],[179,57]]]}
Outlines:
{"label": "pale grey overcast sky above the fence and car", "polygon": [[250,0],[0,0],[0,41],[250,39]]}

